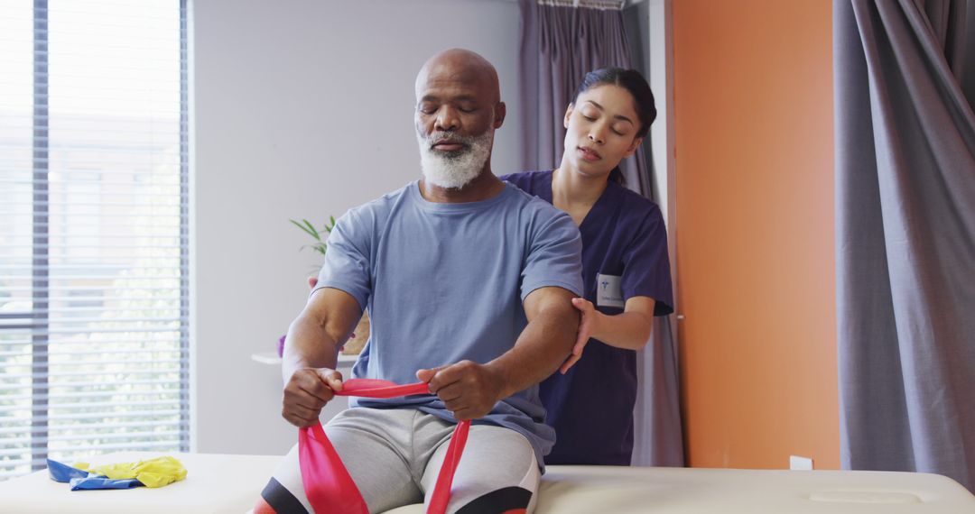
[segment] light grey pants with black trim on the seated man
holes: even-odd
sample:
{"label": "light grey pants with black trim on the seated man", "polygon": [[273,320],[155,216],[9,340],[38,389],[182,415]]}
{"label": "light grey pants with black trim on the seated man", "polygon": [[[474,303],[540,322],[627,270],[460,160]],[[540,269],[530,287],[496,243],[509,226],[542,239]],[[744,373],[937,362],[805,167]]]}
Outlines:
{"label": "light grey pants with black trim on the seated man", "polygon": [[[333,418],[325,432],[372,513],[429,497],[453,428],[415,409],[358,407]],[[448,513],[531,512],[539,477],[538,462],[524,435],[500,426],[472,425],[453,477]],[[287,493],[293,499],[282,498]],[[279,464],[262,496],[278,514],[300,512],[297,503],[312,512],[301,485],[297,445]]]}

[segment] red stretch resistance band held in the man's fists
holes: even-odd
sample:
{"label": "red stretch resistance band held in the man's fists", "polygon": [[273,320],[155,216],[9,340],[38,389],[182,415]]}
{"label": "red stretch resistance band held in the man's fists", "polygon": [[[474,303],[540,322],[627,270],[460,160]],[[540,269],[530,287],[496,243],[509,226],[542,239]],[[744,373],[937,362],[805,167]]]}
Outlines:
{"label": "red stretch resistance band held in the man's fists", "polygon": [[[365,398],[395,398],[409,394],[428,394],[430,389],[424,382],[397,385],[388,381],[372,379],[350,379],[342,384],[337,396],[360,396]],[[471,422],[458,422],[450,437],[444,465],[437,476],[437,486],[430,498],[427,514],[444,514],[450,499],[450,484],[457,470],[460,456],[467,444],[467,432]],[[369,514],[366,500],[356,487],[342,460],[335,453],[329,438],[322,429],[322,423],[298,429],[298,460],[301,464],[301,482],[305,496],[315,512],[336,514]]]}

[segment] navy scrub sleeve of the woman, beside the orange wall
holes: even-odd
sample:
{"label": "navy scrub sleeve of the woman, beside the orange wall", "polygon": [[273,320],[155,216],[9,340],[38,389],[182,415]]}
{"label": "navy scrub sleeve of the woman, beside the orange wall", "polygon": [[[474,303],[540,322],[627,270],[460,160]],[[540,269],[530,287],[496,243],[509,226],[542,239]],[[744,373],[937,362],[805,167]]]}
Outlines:
{"label": "navy scrub sleeve of the woman, beside the orange wall", "polygon": [[623,298],[647,296],[655,300],[654,315],[674,312],[667,227],[656,205],[643,218],[632,242],[623,251],[622,289]]}

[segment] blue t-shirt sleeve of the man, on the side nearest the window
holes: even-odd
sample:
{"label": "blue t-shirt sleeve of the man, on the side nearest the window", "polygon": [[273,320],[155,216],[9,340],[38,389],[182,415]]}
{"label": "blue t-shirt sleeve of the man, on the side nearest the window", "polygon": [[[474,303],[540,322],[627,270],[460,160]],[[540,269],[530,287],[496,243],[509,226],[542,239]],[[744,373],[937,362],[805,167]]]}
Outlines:
{"label": "blue t-shirt sleeve of the man, on the side nearest the window", "polygon": [[371,226],[355,210],[335,222],[329,235],[325,264],[312,291],[331,287],[352,295],[363,310],[371,292]]}

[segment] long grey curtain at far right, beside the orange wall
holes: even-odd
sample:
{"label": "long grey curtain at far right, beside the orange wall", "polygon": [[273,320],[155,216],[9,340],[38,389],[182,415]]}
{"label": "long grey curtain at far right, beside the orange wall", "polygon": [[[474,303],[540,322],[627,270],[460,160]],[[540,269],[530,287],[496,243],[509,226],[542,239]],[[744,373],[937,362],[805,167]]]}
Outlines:
{"label": "long grey curtain at far right, beside the orange wall", "polygon": [[836,0],[844,468],[975,490],[975,2]]}

